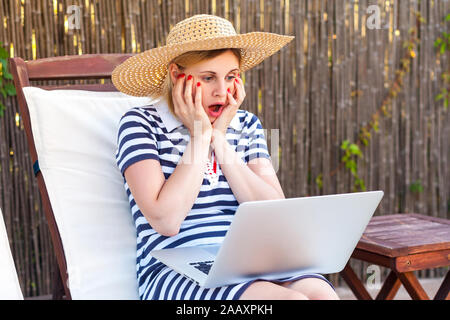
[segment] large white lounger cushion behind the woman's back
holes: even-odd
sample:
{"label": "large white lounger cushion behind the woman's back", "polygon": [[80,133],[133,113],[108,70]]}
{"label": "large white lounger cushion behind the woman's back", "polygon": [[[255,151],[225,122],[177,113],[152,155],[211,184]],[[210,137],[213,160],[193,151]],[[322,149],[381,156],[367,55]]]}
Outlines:
{"label": "large white lounger cushion behind the woman's back", "polygon": [[136,230],[115,153],[121,116],[150,99],[120,92],[23,91],[72,299],[139,299]]}

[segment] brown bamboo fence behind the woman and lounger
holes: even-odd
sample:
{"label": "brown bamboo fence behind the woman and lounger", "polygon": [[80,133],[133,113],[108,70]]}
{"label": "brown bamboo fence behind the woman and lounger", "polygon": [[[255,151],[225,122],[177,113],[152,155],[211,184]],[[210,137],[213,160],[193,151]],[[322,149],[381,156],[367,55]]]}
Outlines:
{"label": "brown bamboo fence behind the woman and lounger", "polygon": [[[370,5],[380,12],[375,29]],[[79,28],[73,8],[80,9]],[[141,52],[163,45],[176,22],[198,13],[227,18],[238,33],[295,35],[245,73],[242,107],[267,129],[286,197],[354,191],[355,177],[341,162],[341,143],[349,140],[363,154],[355,160],[358,178],[367,190],[385,192],[376,215],[448,218],[450,116],[435,97],[449,56],[433,43],[448,31],[449,9],[448,0],[0,0],[0,41],[10,56],[27,60]],[[17,101],[0,99],[0,207],[24,295],[45,295],[52,290],[52,244]],[[367,145],[362,128],[371,134]],[[352,266],[367,278],[367,264]]]}

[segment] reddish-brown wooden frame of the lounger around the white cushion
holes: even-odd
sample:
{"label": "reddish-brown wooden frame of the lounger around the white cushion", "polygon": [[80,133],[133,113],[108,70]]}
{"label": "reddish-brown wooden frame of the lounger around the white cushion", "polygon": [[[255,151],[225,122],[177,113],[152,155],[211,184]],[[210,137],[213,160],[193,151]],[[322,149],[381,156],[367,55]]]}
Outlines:
{"label": "reddish-brown wooden frame of the lounger around the white cushion", "polygon": [[[111,79],[112,70],[133,54],[85,54],[43,58],[24,61],[22,58],[10,58],[10,71],[14,77],[14,85],[17,91],[17,100],[22,117],[25,133],[28,141],[33,165],[38,160],[36,147],[33,140],[30,124],[30,114],[27,101],[23,94],[23,88],[33,86],[32,81],[45,80],[89,80],[89,79]],[[105,84],[66,84],[36,86],[46,90],[70,89],[89,91],[117,91],[111,83]],[[54,299],[71,299],[70,289],[67,286],[67,264],[64,248],[61,242],[58,226],[56,225],[53,209],[48,197],[44,178],[40,171],[35,170],[42,204],[50,229],[53,248],[56,255],[59,273],[55,273],[53,290]]]}

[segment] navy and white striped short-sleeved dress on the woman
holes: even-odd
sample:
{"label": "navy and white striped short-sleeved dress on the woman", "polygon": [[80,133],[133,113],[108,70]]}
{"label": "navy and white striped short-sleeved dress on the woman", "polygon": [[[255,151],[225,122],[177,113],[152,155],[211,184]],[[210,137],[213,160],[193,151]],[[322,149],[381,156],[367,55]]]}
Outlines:
{"label": "navy and white striped short-sleeved dress on the woman", "polygon": [[[166,101],[130,109],[121,118],[117,138],[117,165],[122,172],[133,163],[155,159],[168,179],[175,170],[189,142],[186,127],[169,111]],[[245,163],[255,158],[270,159],[259,119],[238,110],[227,130],[226,138]],[[177,235],[166,237],[152,229],[137,206],[124,177],[131,214],[137,231],[136,271],[141,299],[239,299],[253,282],[206,289],[173,271],[150,255],[154,249],[220,244],[239,205],[227,179],[217,165],[219,183],[212,187],[203,179],[195,203],[181,224]],[[326,280],[319,274],[280,279],[290,281],[304,277]],[[328,282],[329,283],[329,282]],[[331,283],[330,283],[331,285]]]}

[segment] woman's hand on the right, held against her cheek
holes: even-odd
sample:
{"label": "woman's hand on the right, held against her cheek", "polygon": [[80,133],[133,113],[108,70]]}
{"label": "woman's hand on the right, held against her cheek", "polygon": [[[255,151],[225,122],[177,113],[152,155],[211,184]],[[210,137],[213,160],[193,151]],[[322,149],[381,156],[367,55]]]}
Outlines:
{"label": "woman's hand on the right, held against her cheek", "polygon": [[214,138],[219,134],[225,137],[231,120],[234,118],[242,102],[244,101],[245,89],[241,78],[234,78],[234,93],[235,94],[233,96],[231,90],[227,92],[228,105],[223,109],[220,116],[212,124],[213,133],[211,142],[213,142]]}

